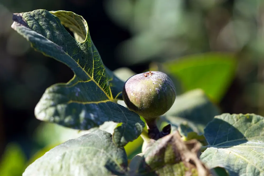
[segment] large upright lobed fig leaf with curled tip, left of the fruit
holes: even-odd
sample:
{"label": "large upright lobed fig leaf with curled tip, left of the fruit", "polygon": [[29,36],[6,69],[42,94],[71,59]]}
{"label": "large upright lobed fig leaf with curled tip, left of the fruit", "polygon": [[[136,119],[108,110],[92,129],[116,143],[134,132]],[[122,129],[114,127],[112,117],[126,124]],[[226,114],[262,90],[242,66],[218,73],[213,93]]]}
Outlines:
{"label": "large upright lobed fig leaf with curled tip, left of the fruit", "polygon": [[[35,108],[37,119],[88,130],[104,122],[122,123],[113,140],[124,146],[144,128],[138,114],[117,104],[124,82],[107,69],[93,44],[87,22],[67,11],[15,13],[12,28],[44,55],[66,64],[74,77],[46,89]],[[74,39],[64,28],[73,31]]]}

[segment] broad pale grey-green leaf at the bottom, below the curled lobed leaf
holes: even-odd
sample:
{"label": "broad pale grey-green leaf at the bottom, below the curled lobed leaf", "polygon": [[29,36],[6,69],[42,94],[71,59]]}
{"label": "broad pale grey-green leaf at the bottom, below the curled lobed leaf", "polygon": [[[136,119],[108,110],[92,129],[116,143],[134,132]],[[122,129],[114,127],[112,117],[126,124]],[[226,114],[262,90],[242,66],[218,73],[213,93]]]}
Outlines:
{"label": "broad pale grey-green leaf at the bottom, below the curled lobed leaf", "polygon": [[128,159],[123,147],[116,147],[111,134],[102,130],[68,140],[29,165],[23,176],[120,175]]}

